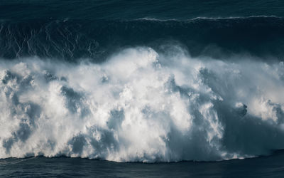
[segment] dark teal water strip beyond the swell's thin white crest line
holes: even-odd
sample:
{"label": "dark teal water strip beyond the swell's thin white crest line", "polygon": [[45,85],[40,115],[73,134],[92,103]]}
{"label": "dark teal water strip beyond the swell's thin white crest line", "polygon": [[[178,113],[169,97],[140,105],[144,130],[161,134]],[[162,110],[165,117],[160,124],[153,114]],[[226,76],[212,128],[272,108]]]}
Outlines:
{"label": "dark teal water strip beyond the swell's thin white crest line", "polygon": [[192,19],[198,16],[284,16],[283,1],[2,0],[0,19]]}

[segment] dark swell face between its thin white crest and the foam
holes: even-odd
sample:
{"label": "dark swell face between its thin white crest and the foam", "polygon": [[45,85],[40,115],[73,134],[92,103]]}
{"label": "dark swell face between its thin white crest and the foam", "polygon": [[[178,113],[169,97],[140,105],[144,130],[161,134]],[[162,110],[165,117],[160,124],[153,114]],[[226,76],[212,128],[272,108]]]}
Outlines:
{"label": "dark swell face between its thin white crest and the foam", "polygon": [[167,51],[180,44],[192,56],[228,58],[250,53],[281,60],[284,19],[276,16],[195,18],[191,20],[43,20],[1,21],[0,57],[27,56],[102,62],[113,51],[150,46]]}

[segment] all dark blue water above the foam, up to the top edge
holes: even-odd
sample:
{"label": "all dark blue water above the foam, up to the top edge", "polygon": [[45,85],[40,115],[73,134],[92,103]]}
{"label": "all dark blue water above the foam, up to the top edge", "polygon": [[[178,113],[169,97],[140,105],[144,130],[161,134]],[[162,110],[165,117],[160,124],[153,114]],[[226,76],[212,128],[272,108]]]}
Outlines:
{"label": "all dark blue water above the foam, up to the top edge", "polygon": [[[104,61],[131,46],[283,56],[283,1],[1,1],[0,57]],[[199,18],[205,19],[199,19]],[[220,19],[219,19],[220,18]]]}

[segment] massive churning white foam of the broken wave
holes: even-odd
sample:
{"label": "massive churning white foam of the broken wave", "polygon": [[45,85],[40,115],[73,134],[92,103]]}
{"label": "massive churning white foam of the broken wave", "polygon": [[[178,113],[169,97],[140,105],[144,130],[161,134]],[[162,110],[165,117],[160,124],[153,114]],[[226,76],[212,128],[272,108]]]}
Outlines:
{"label": "massive churning white foam of the broken wave", "polygon": [[283,62],[231,61],[179,46],[103,63],[1,60],[0,157],[210,161],[283,149]]}

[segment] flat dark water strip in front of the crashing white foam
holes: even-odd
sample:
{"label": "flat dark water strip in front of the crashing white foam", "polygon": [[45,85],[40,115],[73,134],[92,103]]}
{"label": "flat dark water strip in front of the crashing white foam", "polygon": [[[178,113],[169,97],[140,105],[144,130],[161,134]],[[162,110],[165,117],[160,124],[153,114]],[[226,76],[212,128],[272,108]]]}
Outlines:
{"label": "flat dark water strip in front of the crashing white foam", "polygon": [[283,151],[223,162],[117,163],[67,157],[1,159],[1,177],[283,177]]}

